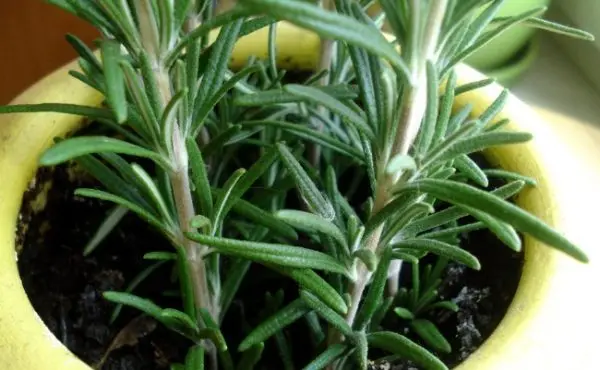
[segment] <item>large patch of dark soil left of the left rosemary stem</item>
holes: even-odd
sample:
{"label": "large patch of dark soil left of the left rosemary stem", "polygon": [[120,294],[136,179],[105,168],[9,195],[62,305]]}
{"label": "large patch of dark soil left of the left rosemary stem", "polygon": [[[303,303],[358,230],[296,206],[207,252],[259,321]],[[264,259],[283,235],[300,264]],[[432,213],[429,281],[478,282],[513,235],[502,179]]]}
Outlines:
{"label": "large patch of dark soil left of the left rosemary stem", "polygon": [[[104,300],[102,292],[124,290],[138,272],[149,266],[142,259],[144,253],[169,250],[170,246],[135,216],[128,215],[97,253],[83,257],[82,248],[109,207],[75,197],[76,187],[91,183],[80,177],[72,182],[72,178],[73,171],[64,168],[41,169],[32,191],[25,195],[18,233],[23,245],[19,269],[25,290],[44,323],[73,353],[96,365],[119,331],[136,319],[133,310],[124,309],[110,325],[114,305]],[[39,202],[36,190],[44,188],[49,180],[52,187],[46,207],[35,214],[29,205],[36,198]],[[161,278],[165,275],[169,276],[168,270],[162,274],[159,271],[136,292],[150,294],[158,303],[173,304],[160,295],[170,286],[168,279]],[[146,326],[155,329],[136,346],[113,351],[103,369],[164,368],[185,355],[182,349],[188,344],[180,336],[161,325]]]}

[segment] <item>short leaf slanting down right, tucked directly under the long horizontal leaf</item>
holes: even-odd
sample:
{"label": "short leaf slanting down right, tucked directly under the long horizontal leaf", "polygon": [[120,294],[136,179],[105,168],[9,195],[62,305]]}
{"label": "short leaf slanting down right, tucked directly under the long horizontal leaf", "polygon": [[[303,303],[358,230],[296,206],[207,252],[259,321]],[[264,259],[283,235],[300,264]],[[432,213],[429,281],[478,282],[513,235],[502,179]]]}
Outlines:
{"label": "short leaf slanting down right, tucked directly under the long horizontal leaf", "polygon": [[345,315],[348,312],[346,301],[325,279],[309,269],[277,269],[280,273],[294,279],[300,288],[311,292],[323,303],[327,304],[338,313]]}

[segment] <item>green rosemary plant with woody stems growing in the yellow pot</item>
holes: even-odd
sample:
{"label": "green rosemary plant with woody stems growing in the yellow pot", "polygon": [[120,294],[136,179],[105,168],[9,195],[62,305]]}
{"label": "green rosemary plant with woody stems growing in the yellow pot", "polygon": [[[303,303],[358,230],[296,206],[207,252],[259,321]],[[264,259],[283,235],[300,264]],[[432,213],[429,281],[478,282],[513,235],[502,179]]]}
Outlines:
{"label": "green rosemary plant with woody stems growing in the yellow pot", "polygon": [[[101,31],[101,61],[68,36],[81,68],[70,73],[106,103],[0,113],[76,114],[101,129],[58,140],[40,164],[76,161],[101,184],[76,194],[116,204],[86,253],[127,212],[172,244],[145,258],[175,266],[181,307],[130,291],[105,297],[189,338],[185,364],[173,369],[251,369],[271,345],[285,369],[366,369],[381,351],[445,369],[435,353],[450,346],[422,313],[458,309],[436,293],[449,261],[481,267],[460,247],[461,233],[488,229],[517,251],[524,233],[587,261],[508,200],[533,179],[482,169],[469,156],[531,139],[495,119],[507,93],[479,116],[469,106],[452,110],[455,96],[493,82],[457,85],[455,66],[508,28],[592,38],[538,18],[543,8],[498,18],[502,0],[380,0],[381,12],[369,16],[374,1],[240,0],[215,15],[207,0],[49,2]],[[323,38],[319,70],[302,82],[277,66],[279,21]],[[384,22],[391,33],[381,32]],[[230,70],[236,42],[263,27],[269,55]],[[491,189],[492,176],[506,184]],[[475,221],[459,224],[466,216]],[[420,272],[426,255],[437,262]],[[285,302],[269,296],[269,314],[231,349],[221,327],[253,263],[297,282],[299,293],[285,292]],[[406,264],[410,287],[399,278]],[[429,349],[383,327],[386,315],[410,322]],[[294,363],[293,353],[309,350],[290,346],[283,332],[300,319],[318,350]]]}

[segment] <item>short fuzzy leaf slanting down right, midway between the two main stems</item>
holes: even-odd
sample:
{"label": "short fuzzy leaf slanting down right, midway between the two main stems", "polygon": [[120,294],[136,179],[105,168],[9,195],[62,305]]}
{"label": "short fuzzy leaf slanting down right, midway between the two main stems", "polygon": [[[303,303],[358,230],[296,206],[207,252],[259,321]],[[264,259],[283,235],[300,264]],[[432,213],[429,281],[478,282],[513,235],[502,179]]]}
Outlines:
{"label": "short fuzzy leaf slanting down right, midway between the two main stems", "polygon": [[333,220],[335,218],[333,206],[317,189],[302,165],[285,145],[277,144],[277,149],[306,204],[314,213],[323,216],[326,220]]}

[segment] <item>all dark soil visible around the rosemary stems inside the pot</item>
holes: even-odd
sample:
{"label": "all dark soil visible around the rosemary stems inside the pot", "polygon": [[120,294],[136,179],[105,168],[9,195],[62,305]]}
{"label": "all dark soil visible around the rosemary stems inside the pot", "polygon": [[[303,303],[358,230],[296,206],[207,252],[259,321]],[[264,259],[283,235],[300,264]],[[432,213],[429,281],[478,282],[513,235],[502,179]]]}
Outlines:
{"label": "all dark soil visible around the rosemary stems inside the pot", "polygon": [[[83,247],[110,211],[105,203],[73,195],[75,188],[93,185],[80,174],[74,175],[72,168],[42,169],[38,173],[25,195],[17,233],[18,244],[23,246],[19,268],[25,290],[56,337],[91,366],[100,368],[103,364],[104,370],[166,369],[169,363],[182,361],[190,343],[132,309],[123,309],[117,320],[109,323],[114,305],[102,298],[102,292],[126,289],[135,275],[150,265],[143,260],[144,253],[169,251],[171,247],[137,217],[128,215],[96,252],[83,257]],[[45,201],[40,192],[47,192]],[[522,265],[522,254],[512,252],[489,232],[471,233],[463,241],[463,248],[480,259],[482,270],[450,264],[440,294],[458,304],[460,311],[434,312],[430,317],[452,346],[450,355],[438,354],[450,367],[467,358],[498,325],[514,295]],[[159,269],[135,293],[159,305],[178,307],[179,298],[165,294],[176,288],[164,278],[171,272],[165,266]],[[242,285],[223,328],[232,349],[264,311],[266,291],[297,291],[289,279],[260,266],[253,265],[249,274],[252,284]],[[403,275],[410,279],[408,268]],[[283,300],[294,298],[286,296]],[[303,364],[304,354],[312,352],[306,347],[311,341],[302,330],[305,322],[297,324],[285,335],[294,348],[302,348],[295,355]],[[116,348],[107,352],[111,346]],[[267,361],[262,368],[283,368],[274,346],[265,350],[268,348],[273,353],[265,352],[263,358],[275,361]],[[418,370],[410,363],[396,362],[372,364],[372,369]]]}

